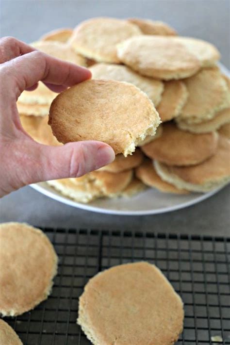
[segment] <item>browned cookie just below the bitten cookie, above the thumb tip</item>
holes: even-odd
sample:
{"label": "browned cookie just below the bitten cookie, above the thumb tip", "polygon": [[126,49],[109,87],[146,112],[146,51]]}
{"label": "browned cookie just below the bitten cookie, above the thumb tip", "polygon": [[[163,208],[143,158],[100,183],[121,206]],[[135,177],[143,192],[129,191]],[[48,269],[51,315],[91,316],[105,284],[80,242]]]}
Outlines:
{"label": "browned cookie just below the bitten cookie, above the thumb tip", "polygon": [[143,153],[140,149],[136,149],[132,155],[124,157],[123,154],[118,154],[115,156],[115,160],[105,166],[102,166],[97,171],[109,171],[112,173],[118,173],[121,171],[129,170],[140,165],[143,161]]}

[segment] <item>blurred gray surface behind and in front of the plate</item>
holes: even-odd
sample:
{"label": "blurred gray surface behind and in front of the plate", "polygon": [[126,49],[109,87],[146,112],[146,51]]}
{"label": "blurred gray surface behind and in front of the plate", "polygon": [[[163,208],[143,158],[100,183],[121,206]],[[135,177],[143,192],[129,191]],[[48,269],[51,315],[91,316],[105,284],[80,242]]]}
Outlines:
{"label": "blurred gray surface behind and in front of the plate", "polygon": [[[0,35],[32,42],[58,27],[74,27],[91,16],[139,16],[163,20],[181,35],[214,43],[230,67],[229,0],[1,0]],[[200,234],[230,233],[230,186],[195,206],[152,216],[112,216],[66,206],[30,187],[0,199],[0,222],[37,226],[150,230]]]}

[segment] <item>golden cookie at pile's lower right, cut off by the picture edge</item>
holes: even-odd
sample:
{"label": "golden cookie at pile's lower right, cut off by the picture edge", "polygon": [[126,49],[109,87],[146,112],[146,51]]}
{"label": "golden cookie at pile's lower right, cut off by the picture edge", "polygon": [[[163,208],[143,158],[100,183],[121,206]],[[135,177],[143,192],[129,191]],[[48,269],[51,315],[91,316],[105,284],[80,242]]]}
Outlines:
{"label": "golden cookie at pile's lower right, cut off by the picture edge", "polygon": [[220,136],[213,157],[194,166],[169,166],[155,161],[155,169],[164,181],[177,188],[209,192],[230,182],[230,140]]}

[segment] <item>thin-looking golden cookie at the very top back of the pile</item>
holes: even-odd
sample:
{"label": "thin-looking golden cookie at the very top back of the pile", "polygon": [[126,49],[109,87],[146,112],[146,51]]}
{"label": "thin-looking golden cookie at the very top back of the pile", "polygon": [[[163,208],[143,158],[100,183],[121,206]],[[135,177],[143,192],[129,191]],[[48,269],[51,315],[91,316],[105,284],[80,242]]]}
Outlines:
{"label": "thin-looking golden cookie at the very top back of the pile", "polygon": [[129,18],[128,21],[139,27],[145,35],[175,36],[177,32],[168,24],[159,20]]}

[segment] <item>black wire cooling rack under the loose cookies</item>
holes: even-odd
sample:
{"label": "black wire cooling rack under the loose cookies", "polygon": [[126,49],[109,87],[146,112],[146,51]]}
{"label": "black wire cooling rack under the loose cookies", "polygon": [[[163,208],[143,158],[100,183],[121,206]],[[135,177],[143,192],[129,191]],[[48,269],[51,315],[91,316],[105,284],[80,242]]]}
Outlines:
{"label": "black wire cooling rack under the loose cookies", "polygon": [[184,329],[177,344],[230,344],[230,238],[42,230],[59,256],[52,294],[32,312],[5,318],[24,345],[89,345],[76,325],[85,283],[100,270],[141,260],[155,263],[182,297]]}

